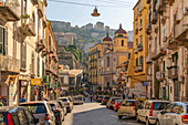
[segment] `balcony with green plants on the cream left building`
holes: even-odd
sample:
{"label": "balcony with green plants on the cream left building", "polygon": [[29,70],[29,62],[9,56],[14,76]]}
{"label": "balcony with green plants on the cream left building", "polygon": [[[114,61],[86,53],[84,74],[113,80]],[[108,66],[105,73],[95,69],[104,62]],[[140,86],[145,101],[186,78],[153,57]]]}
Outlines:
{"label": "balcony with green plants on the cream left building", "polygon": [[33,20],[30,18],[22,19],[20,31],[23,33],[23,35],[35,37],[35,25]]}

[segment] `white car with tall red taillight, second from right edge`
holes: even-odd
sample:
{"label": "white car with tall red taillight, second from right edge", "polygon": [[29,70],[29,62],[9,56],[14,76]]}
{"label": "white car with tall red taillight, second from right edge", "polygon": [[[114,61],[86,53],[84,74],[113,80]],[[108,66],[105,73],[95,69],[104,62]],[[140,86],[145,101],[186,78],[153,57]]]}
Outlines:
{"label": "white car with tall red taillight, second from right edge", "polygon": [[136,121],[146,122],[147,125],[155,124],[158,113],[169,104],[168,101],[147,100],[143,106],[139,106]]}

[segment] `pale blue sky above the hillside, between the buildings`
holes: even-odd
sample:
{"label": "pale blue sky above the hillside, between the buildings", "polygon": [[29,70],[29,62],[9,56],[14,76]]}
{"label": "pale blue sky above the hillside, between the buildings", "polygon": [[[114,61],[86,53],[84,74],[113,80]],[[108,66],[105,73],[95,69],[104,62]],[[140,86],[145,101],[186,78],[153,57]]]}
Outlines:
{"label": "pale blue sky above the hillside, between the buildings", "polygon": [[[56,2],[61,1],[61,2]],[[96,6],[100,17],[92,17],[95,7],[70,4],[76,2]],[[138,0],[48,0],[46,18],[53,21],[71,22],[71,25],[95,24],[97,21],[104,22],[111,29],[118,29],[122,23],[126,31],[133,30],[134,12],[133,8]]]}

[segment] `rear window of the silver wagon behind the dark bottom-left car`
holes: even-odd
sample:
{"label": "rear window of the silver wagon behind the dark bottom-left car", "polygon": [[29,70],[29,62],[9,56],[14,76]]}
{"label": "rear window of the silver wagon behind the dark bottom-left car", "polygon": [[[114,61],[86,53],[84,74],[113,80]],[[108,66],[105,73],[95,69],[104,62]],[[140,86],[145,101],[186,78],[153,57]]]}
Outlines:
{"label": "rear window of the silver wagon behind the dark bottom-left car", "polygon": [[33,104],[22,104],[20,106],[25,106],[29,111],[33,114],[46,113],[44,104],[41,103],[33,103]]}

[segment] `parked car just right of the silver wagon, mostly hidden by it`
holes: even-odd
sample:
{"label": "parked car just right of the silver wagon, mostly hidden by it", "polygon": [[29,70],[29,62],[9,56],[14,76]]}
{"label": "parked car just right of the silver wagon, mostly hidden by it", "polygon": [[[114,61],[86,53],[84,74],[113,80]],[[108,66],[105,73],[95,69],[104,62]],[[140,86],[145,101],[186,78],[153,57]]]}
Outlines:
{"label": "parked car just right of the silver wagon, mostly hidden by it", "polygon": [[64,111],[61,108],[60,104],[55,101],[49,101],[48,104],[51,106],[54,115],[56,125],[61,125],[64,121]]}

